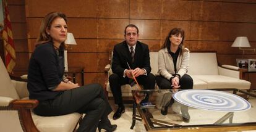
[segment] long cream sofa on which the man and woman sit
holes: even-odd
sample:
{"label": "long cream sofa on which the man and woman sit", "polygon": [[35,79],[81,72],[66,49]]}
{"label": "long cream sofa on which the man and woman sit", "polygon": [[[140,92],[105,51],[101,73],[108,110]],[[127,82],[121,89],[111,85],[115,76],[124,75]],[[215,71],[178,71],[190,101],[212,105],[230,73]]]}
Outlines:
{"label": "long cream sofa on which the man and woman sit", "polygon": [[[155,75],[158,72],[158,52],[150,52],[150,65],[151,73]],[[106,65],[105,73],[106,91],[108,96],[113,96],[108,82],[108,76],[112,73],[110,64]],[[216,52],[190,52],[188,74],[194,80],[194,89],[250,89],[250,82],[240,79],[239,67],[218,65]],[[136,88],[137,86],[130,88],[130,85],[122,85],[122,96],[132,96],[131,90]]]}

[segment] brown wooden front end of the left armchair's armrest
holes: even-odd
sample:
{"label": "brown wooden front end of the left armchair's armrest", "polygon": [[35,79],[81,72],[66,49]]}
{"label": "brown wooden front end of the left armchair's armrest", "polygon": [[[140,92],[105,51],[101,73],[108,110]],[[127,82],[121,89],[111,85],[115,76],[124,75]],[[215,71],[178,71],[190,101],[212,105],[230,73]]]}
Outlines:
{"label": "brown wooden front end of the left armchair's armrest", "polygon": [[36,99],[14,100],[10,104],[14,109],[33,109],[38,105]]}

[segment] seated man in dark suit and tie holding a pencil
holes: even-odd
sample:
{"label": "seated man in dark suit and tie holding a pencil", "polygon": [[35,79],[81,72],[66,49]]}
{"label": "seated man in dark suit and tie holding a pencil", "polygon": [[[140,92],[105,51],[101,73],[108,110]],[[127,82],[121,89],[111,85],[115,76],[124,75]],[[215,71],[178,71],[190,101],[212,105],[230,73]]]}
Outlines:
{"label": "seated man in dark suit and tie holding a pencil", "polygon": [[[114,102],[118,104],[118,109],[113,115],[114,120],[120,118],[125,111],[122,102],[121,85],[134,85],[132,74],[138,83],[143,85],[144,89],[155,88],[155,76],[150,73],[148,45],[138,41],[139,29],[135,25],[127,25],[124,30],[124,38],[126,39],[125,41],[114,46],[113,74],[109,76],[109,85],[113,93]],[[131,69],[129,69],[127,62]]]}

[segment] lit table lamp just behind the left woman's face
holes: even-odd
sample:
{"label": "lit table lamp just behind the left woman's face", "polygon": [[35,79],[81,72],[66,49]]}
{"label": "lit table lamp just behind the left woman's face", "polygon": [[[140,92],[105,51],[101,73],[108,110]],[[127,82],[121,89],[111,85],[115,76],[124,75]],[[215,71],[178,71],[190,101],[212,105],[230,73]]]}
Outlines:
{"label": "lit table lamp just behind the left woman's face", "polygon": [[[66,38],[65,44],[70,44],[70,45],[76,45],[77,44],[75,42],[75,38],[74,38],[73,33],[67,33],[67,38]],[[64,50],[64,65],[65,65],[65,72],[68,72],[69,68],[68,68],[68,65],[67,65],[67,50]]]}

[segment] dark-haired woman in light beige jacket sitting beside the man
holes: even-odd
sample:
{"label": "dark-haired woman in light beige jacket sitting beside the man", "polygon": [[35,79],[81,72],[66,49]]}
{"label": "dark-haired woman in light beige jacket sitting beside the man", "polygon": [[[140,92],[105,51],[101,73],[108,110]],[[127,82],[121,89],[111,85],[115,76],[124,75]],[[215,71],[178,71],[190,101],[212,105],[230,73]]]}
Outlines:
{"label": "dark-haired woman in light beige jacket sitting beside the man", "polygon": [[[193,80],[191,76],[186,74],[189,68],[189,49],[183,46],[184,38],[184,30],[173,28],[169,31],[161,50],[158,52],[156,84],[160,89],[193,88]],[[170,104],[173,102],[174,100],[171,99]],[[163,107],[161,113],[166,115],[167,109],[168,106]],[[184,113],[186,112],[183,112],[182,115]],[[184,120],[189,120],[189,118]]]}

